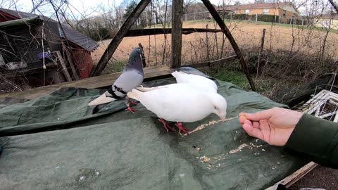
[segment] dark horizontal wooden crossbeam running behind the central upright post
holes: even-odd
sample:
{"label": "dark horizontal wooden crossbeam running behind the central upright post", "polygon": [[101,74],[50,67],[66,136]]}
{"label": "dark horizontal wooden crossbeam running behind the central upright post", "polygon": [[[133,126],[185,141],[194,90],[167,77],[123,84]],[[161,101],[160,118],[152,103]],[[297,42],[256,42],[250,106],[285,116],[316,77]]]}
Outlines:
{"label": "dark horizontal wooden crossbeam running behind the central upright post", "polygon": [[[171,34],[171,28],[147,28],[147,29],[135,29],[129,30],[125,37],[140,37],[157,34]],[[219,29],[206,29],[206,28],[182,28],[182,34],[192,34],[195,32],[223,32]]]}

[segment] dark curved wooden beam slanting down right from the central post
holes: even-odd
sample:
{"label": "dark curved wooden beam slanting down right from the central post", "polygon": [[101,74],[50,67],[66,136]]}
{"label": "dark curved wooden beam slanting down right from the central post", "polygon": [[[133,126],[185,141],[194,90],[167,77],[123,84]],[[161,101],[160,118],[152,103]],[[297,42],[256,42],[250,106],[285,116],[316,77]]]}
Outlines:
{"label": "dark curved wooden beam slanting down right from the central post", "polygon": [[249,84],[250,84],[251,89],[253,91],[256,91],[255,84],[253,84],[253,80],[250,76],[249,69],[246,66],[246,63],[244,61],[244,57],[242,55],[242,52],[240,51],[239,47],[237,46],[236,41],[234,41],[234,37],[232,37],[230,30],[227,28],[227,26],[225,25],[222,18],[220,18],[220,15],[217,13],[217,11],[215,10],[215,7],[211,4],[211,2],[209,0],[202,0],[202,1],[203,1],[204,5],[206,6],[206,8],[208,8],[208,11],[213,16],[213,19],[215,19],[216,23],[218,23],[218,25],[220,26],[220,29],[223,30],[227,39],[229,39],[230,44],[232,45],[232,48],[234,49],[234,52],[237,55],[237,58],[239,58],[239,63],[241,63],[242,69],[244,70],[244,73],[249,80]]}

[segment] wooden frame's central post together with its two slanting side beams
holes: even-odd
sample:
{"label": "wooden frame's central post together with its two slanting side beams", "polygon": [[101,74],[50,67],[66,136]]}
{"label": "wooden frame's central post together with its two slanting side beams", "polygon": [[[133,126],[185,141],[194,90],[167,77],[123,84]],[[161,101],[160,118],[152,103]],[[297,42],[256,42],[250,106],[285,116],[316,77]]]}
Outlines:
{"label": "wooden frame's central post together with its two slanting side beams", "polygon": [[[213,16],[213,19],[220,26],[220,29],[222,30],[222,32],[225,34],[227,39],[229,39],[230,44],[232,45],[232,48],[234,49],[234,52],[236,53],[236,58],[239,59],[239,63],[241,64],[242,69],[244,70],[244,73],[249,81],[251,89],[253,91],[256,91],[256,87],[253,84],[253,80],[251,79],[250,72],[246,66],[246,62],[244,60],[242,52],[240,51],[239,46],[234,40],[234,37],[232,37],[230,30],[225,25],[223,19],[220,18],[220,15],[217,13],[217,11],[215,10],[211,2],[209,0],[202,0],[202,1],[204,5],[206,6],[206,8],[208,8],[208,11]],[[123,23],[122,27],[120,27],[120,30],[118,30],[118,33],[115,34],[115,36],[113,37],[106,51],[104,51],[104,55],[101,57],[99,63],[96,65],[96,68],[92,72],[91,76],[101,75],[102,70],[104,70],[104,68],[108,64],[108,61],[113,56],[113,53],[118,48],[118,45],[120,44],[120,42],[122,42],[123,37],[127,36],[128,31],[130,31],[130,27],[132,27],[132,25],[137,20],[137,18],[139,18],[139,15],[141,15],[141,13],[144,11],[144,8],[146,8],[146,6],[148,6],[150,2],[151,0],[141,0],[139,4],[137,4],[136,8],[128,16],[127,20],[125,20],[125,23]],[[171,34],[172,34],[171,35],[171,42],[172,42],[171,68],[180,68],[181,66],[182,30],[183,30],[182,29],[182,15],[183,15],[183,1],[173,0],[173,25],[172,25],[173,27],[171,30]],[[200,30],[200,32],[206,32],[206,30],[203,30],[203,31]],[[223,61],[226,61],[226,60],[227,59]]]}

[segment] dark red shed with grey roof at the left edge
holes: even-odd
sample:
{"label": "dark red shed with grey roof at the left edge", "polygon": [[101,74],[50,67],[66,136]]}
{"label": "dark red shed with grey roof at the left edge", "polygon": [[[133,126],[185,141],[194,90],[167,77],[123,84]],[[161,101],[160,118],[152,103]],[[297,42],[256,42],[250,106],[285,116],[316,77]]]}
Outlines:
{"label": "dark red shed with grey roof at the left edge", "polygon": [[97,47],[94,40],[56,20],[0,8],[2,76],[24,75],[30,87],[83,79],[92,71],[91,53]]}

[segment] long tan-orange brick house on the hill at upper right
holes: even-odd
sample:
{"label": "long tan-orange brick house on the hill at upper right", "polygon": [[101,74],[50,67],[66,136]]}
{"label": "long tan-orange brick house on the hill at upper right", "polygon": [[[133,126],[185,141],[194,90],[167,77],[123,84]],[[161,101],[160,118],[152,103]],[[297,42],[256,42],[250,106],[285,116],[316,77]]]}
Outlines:
{"label": "long tan-orange brick house on the hill at upper right", "polygon": [[[223,12],[223,6],[218,6],[217,11]],[[253,15],[275,15],[275,22],[287,23],[287,20],[298,18],[299,11],[292,3],[264,3],[264,4],[239,4],[234,6],[225,6],[224,11],[227,14],[245,14],[247,19],[251,20]]]}

